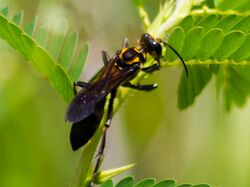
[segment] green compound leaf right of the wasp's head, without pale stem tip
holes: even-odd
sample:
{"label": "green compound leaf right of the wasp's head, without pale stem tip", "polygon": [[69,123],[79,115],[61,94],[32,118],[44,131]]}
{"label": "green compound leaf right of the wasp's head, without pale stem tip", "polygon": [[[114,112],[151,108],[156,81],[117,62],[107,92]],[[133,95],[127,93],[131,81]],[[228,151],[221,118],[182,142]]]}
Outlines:
{"label": "green compound leaf right of the wasp's head, without pale stem tip", "polygon": [[[242,106],[249,95],[250,15],[203,13],[187,16],[175,27],[169,44],[180,51],[190,68],[190,77],[181,77],[179,108],[191,105],[213,74],[223,88],[225,107]],[[167,51],[165,59],[176,60]],[[244,69],[245,73],[242,72]],[[242,84],[239,86],[238,82]]]}

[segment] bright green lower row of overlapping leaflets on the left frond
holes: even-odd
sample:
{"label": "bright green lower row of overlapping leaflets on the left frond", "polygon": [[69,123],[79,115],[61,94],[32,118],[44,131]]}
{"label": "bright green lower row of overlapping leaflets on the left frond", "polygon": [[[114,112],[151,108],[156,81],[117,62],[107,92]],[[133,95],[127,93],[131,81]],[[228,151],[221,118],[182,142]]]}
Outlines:
{"label": "bright green lower row of overlapping leaflets on the left frond", "polygon": [[[57,66],[53,58],[33,40],[28,33],[0,15],[0,37],[19,51],[45,76],[51,85],[69,102],[73,97],[72,81],[65,70]],[[57,78],[55,78],[57,77]],[[63,81],[59,83],[58,81]]]}

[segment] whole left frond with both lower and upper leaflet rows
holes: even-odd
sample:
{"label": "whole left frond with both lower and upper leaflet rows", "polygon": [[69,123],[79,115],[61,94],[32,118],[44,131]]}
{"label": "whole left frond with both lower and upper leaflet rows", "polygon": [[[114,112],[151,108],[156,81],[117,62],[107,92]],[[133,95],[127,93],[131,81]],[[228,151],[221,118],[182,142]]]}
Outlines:
{"label": "whole left frond with both lower and upper leaflet rows", "polygon": [[0,37],[30,61],[69,102],[73,97],[72,80],[80,76],[88,45],[82,48],[77,46],[77,32],[67,33],[64,20],[59,23],[63,34],[54,34],[49,38],[46,26],[36,28],[37,18],[22,27],[23,13],[8,18],[8,12],[8,7],[0,10]]}

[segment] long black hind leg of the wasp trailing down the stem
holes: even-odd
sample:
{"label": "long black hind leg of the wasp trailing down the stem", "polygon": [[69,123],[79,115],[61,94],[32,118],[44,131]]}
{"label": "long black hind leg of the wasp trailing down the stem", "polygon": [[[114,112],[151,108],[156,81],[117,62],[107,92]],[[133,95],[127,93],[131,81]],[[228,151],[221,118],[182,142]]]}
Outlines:
{"label": "long black hind leg of the wasp trailing down the stem", "polygon": [[93,185],[93,183],[95,183],[98,172],[99,172],[99,169],[100,169],[100,166],[101,166],[103,158],[104,158],[104,149],[105,149],[105,145],[106,145],[106,133],[107,133],[108,128],[110,127],[111,120],[112,120],[113,104],[114,104],[114,99],[116,97],[116,92],[117,92],[117,89],[114,89],[111,92],[111,96],[110,96],[110,99],[109,99],[107,120],[106,120],[106,123],[105,123],[105,126],[104,126],[103,135],[102,135],[102,139],[101,139],[101,144],[100,144],[99,149],[98,149],[97,160],[96,160],[96,164],[95,164],[95,167],[94,167],[93,179],[92,179],[92,182],[91,182],[90,186]]}

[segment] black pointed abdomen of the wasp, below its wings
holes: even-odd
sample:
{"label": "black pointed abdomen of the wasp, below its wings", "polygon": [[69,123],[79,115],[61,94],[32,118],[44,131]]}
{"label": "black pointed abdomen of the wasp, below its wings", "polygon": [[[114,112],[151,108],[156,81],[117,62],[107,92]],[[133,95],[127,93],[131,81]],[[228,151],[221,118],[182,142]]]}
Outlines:
{"label": "black pointed abdomen of the wasp, below its wings", "polygon": [[73,151],[84,146],[95,134],[102,120],[106,99],[97,103],[95,111],[84,120],[72,124],[70,143]]}

